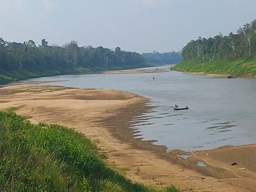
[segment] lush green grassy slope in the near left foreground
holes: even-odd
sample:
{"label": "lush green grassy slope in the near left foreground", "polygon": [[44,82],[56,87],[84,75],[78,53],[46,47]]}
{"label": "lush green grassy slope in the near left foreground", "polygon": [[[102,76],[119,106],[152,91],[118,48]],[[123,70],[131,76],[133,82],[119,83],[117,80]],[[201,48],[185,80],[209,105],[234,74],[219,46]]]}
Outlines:
{"label": "lush green grassy slope in the near left foreground", "polygon": [[0,111],[0,191],[178,192],[132,183],[99,158],[84,135],[56,124],[31,124]]}

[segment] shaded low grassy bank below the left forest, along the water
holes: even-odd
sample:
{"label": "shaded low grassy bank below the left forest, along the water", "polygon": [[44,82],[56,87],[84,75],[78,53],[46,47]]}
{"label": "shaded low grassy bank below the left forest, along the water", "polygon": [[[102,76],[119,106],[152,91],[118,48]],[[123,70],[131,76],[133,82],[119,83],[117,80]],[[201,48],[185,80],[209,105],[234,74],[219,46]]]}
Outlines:
{"label": "shaded low grassy bank below the left forest, along the water", "polygon": [[142,67],[149,67],[154,66],[154,64],[149,63],[141,63],[137,66],[111,66],[111,67],[99,67],[94,66],[91,68],[58,68],[58,69],[43,69],[43,70],[20,70],[20,71],[13,71],[7,72],[4,70],[0,71],[0,84],[7,84],[14,81],[25,80],[29,78],[36,78],[36,77],[45,77],[45,76],[56,76],[56,75],[67,75],[67,74],[86,74],[92,72],[100,72],[105,70],[121,70],[121,69],[131,69],[131,68],[142,68]]}

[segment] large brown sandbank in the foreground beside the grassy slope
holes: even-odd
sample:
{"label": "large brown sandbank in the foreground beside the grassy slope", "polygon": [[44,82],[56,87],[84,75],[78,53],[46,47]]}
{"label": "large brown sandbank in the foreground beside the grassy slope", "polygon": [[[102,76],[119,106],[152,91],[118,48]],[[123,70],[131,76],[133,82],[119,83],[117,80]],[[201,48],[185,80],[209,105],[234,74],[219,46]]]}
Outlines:
{"label": "large brown sandbank in the foreground beside the grassy slope", "polygon": [[[126,170],[126,176],[134,181],[158,187],[174,184],[186,192],[256,191],[255,144],[195,152],[182,160],[176,155],[185,152],[165,153],[163,146],[151,145],[152,141],[132,139],[129,121],[146,110],[147,98],[115,90],[38,83],[0,88],[0,109],[15,107],[17,114],[33,123],[74,127],[97,143],[100,151],[107,154],[108,164]],[[207,166],[196,166],[198,160]],[[231,166],[231,162],[238,165]]]}

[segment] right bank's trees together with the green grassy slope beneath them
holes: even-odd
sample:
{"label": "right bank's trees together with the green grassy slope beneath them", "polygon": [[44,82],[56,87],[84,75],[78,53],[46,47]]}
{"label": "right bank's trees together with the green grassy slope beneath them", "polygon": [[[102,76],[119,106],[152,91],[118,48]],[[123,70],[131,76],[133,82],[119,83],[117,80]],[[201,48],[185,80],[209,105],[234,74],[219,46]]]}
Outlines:
{"label": "right bank's trees together with the green grassy slope beneath them", "polygon": [[191,40],[181,54],[182,62],[174,70],[255,77],[256,20],[239,28],[237,34]]}

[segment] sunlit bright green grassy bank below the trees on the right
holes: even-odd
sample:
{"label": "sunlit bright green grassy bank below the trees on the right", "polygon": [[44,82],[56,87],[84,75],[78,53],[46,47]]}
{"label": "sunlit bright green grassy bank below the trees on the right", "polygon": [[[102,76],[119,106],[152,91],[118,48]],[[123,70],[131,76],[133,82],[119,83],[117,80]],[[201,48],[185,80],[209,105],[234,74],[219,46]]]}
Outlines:
{"label": "sunlit bright green grassy bank below the trees on the right", "polygon": [[173,67],[174,70],[186,72],[204,72],[208,74],[224,74],[236,77],[255,77],[256,61],[254,60],[216,60],[209,62],[182,61]]}

